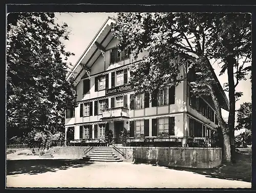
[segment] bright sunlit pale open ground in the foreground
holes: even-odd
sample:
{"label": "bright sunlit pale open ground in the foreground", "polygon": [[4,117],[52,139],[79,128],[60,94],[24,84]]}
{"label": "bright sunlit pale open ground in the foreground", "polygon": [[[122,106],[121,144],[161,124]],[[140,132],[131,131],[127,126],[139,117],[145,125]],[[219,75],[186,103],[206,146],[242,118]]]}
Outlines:
{"label": "bright sunlit pale open ground in the foreground", "polygon": [[250,188],[251,183],[209,178],[161,166],[98,162],[55,167],[39,174],[31,173],[31,168],[22,174],[9,173],[7,187]]}

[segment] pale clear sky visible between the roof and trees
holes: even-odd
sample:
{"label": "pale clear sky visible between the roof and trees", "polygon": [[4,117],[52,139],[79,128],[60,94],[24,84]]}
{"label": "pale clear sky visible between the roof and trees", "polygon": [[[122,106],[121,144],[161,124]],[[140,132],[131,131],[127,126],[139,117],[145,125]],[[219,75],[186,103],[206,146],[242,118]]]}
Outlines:
{"label": "pale clear sky visible between the roof and trees", "polygon": [[[67,51],[71,51],[75,56],[69,58],[69,62],[74,65],[84,50],[90,44],[100,27],[104,24],[108,16],[115,17],[117,13],[55,13],[58,23],[67,23],[71,31],[69,40],[63,43]],[[214,60],[211,61],[214,63]],[[227,82],[227,74],[219,76],[221,63],[216,61],[212,67],[223,86]],[[241,81],[237,88],[237,92],[243,92],[243,96],[236,102],[236,109],[239,109],[243,102],[251,102],[251,82],[249,80]],[[225,92],[228,98],[228,92]],[[222,111],[223,118],[227,120],[228,112]]]}

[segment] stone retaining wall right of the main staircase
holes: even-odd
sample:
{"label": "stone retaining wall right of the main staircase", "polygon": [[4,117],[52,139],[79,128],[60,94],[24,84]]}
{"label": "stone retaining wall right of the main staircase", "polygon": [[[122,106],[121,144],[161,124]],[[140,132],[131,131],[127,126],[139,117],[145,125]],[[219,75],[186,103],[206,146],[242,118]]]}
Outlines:
{"label": "stone retaining wall right of the main staircase", "polygon": [[151,163],[164,166],[211,168],[221,164],[222,149],[219,147],[118,147],[123,161]]}

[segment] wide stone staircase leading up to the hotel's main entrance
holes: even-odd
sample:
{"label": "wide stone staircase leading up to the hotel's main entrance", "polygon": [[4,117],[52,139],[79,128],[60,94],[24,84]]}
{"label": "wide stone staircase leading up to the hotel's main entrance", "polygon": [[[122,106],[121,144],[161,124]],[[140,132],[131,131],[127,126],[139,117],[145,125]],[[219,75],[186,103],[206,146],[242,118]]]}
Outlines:
{"label": "wide stone staircase leading up to the hotel's main entrance", "polygon": [[93,152],[89,153],[83,160],[86,161],[101,161],[101,162],[121,162],[112,151],[112,147],[97,147]]}

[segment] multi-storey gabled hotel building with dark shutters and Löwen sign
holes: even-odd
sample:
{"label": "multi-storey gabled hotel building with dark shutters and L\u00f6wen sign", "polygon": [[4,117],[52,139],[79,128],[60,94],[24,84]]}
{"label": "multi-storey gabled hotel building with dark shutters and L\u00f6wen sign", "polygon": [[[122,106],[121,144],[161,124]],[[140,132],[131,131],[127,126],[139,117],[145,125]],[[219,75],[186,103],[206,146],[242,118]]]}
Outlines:
{"label": "multi-storey gabled hotel building with dark shutters and L\u00f6wen sign", "polygon": [[[194,74],[193,70],[187,73],[185,65],[180,69],[183,79],[178,86],[158,93],[156,100],[150,100],[147,94],[132,97],[129,66],[147,53],[134,59],[125,50],[118,52],[118,40],[111,31],[114,22],[110,17],[105,21],[67,76],[75,79],[78,106],[66,112],[66,140],[77,143],[104,140],[106,127],[113,131],[116,143],[121,143],[123,128],[130,131],[133,142],[181,139],[181,145],[187,146],[188,137],[203,140],[210,137],[211,128],[218,125],[214,104],[208,96],[191,96],[189,81]],[[216,91],[222,108],[228,110],[228,100],[219,81]]]}

